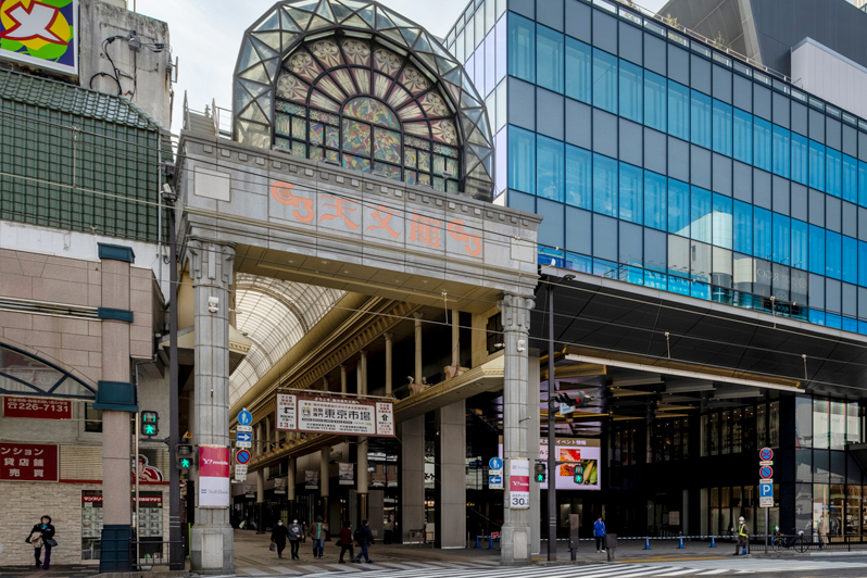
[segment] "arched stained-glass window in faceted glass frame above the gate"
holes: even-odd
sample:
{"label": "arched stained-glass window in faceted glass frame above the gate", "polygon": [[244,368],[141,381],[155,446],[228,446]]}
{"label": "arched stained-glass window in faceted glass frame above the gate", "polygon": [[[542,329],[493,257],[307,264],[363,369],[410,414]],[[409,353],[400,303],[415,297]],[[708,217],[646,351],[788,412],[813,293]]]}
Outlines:
{"label": "arched stained-glass window in faceted glass frame above the gate", "polygon": [[490,199],[485,104],[424,28],[376,2],[279,2],[246,35],[235,138]]}

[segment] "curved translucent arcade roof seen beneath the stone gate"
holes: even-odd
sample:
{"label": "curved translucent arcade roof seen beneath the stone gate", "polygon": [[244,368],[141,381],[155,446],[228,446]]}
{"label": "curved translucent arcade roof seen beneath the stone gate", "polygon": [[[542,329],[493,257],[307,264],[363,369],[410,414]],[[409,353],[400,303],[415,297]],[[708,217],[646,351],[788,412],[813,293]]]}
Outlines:
{"label": "curved translucent arcade roof seen beneath the stone gate", "polygon": [[298,341],[345,291],[235,274],[236,326],[253,344],[229,377],[229,404],[235,403]]}

